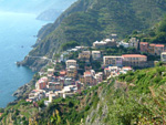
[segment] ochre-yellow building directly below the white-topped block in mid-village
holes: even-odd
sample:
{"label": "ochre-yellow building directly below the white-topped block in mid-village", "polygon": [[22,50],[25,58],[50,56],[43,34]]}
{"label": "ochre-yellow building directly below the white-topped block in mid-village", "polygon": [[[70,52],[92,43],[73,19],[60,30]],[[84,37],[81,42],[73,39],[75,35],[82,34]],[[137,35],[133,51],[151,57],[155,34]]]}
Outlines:
{"label": "ochre-yellow building directly below the white-topped block in mid-village", "polygon": [[76,77],[76,75],[77,75],[76,66],[71,65],[70,67],[66,69],[66,76],[68,77]]}

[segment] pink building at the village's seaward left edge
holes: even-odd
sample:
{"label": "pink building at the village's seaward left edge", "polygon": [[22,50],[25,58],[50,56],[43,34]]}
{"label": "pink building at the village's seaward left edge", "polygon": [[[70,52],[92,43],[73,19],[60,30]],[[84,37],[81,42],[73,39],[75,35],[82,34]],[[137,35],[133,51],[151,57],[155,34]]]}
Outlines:
{"label": "pink building at the village's seaward left edge", "polygon": [[37,90],[44,90],[46,88],[48,84],[48,77],[41,77],[37,83],[35,83],[35,88]]}

